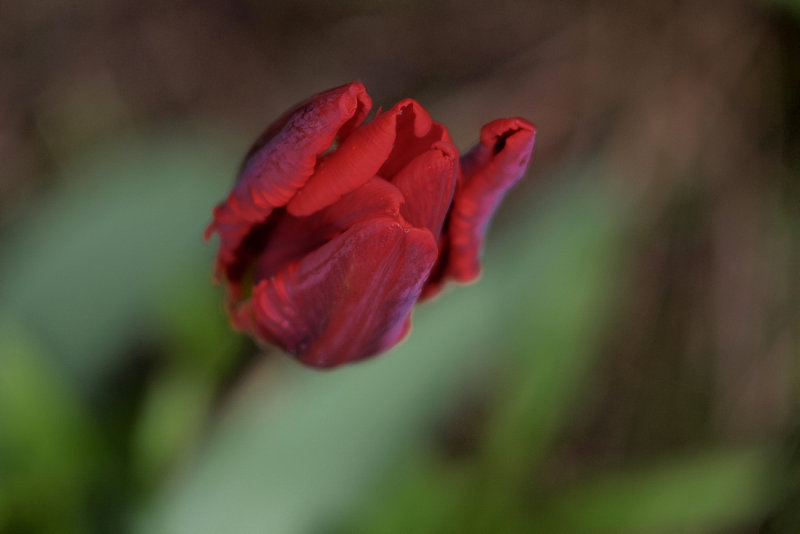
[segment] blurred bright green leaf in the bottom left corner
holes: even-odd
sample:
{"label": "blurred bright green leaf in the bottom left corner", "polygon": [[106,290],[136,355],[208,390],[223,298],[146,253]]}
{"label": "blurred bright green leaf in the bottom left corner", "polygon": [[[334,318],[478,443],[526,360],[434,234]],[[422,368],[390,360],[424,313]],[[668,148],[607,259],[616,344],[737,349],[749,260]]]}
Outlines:
{"label": "blurred bright green leaf in the bottom left corner", "polygon": [[1,313],[0,369],[0,531],[83,530],[96,449],[79,400],[30,333]]}

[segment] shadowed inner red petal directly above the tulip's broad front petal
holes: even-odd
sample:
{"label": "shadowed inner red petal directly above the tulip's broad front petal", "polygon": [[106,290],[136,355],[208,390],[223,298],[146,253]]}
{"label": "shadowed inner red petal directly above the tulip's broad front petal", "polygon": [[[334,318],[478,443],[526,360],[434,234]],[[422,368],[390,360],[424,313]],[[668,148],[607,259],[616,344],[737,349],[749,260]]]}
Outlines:
{"label": "shadowed inner red petal directly above the tulip's broad front petal", "polygon": [[[260,247],[255,281],[274,276],[351,226],[376,217],[399,219],[400,191],[378,177],[309,217],[282,213]],[[267,246],[268,245],[268,246]]]}

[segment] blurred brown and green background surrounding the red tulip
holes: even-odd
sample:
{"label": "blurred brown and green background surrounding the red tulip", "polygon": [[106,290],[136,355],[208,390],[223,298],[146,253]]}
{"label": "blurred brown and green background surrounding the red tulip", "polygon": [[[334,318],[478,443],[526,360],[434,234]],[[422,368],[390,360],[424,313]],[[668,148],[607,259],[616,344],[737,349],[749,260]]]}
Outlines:
{"label": "blurred brown and green background surrounding the red tulip", "polygon": [[[2,1],[0,80],[0,532],[800,532],[796,0]],[[482,280],[320,372],[202,232],[350,80],[538,138]]]}

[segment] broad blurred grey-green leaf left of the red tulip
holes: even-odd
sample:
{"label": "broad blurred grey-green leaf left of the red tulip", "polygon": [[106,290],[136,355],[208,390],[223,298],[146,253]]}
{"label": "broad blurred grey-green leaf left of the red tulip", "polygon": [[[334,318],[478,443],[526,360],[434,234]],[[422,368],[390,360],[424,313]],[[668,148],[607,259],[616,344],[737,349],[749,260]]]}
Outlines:
{"label": "broad blurred grey-green leaf left of the red tulip", "polygon": [[232,180],[225,147],[184,132],[98,150],[9,235],[0,302],[76,383],[95,383],[114,364],[155,288],[187,266],[210,273],[202,230]]}

